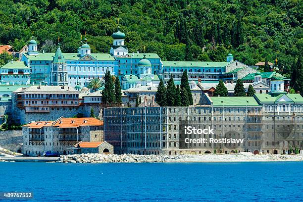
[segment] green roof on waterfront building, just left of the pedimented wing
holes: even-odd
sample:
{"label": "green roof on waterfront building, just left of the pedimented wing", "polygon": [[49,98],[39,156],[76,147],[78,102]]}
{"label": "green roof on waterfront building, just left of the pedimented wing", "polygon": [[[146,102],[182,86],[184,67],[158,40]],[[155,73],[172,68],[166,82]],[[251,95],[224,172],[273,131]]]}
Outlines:
{"label": "green roof on waterfront building, just left of the pedimented wing", "polygon": [[259,106],[253,97],[211,97],[214,106]]}

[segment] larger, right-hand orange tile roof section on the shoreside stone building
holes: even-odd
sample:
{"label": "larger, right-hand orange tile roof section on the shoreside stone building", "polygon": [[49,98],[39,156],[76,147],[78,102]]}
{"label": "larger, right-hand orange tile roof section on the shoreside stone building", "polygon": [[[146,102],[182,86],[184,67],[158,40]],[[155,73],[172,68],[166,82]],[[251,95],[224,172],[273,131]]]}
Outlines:
{"label": "larger, right-hand orange tile roof section on the shoreside stone building", "polygon": [[85,117],[85,118],[61,118],[57,120],[53,126],[63,127],[79,127],[79,126],[102,126],[103,121],[97,118]]}

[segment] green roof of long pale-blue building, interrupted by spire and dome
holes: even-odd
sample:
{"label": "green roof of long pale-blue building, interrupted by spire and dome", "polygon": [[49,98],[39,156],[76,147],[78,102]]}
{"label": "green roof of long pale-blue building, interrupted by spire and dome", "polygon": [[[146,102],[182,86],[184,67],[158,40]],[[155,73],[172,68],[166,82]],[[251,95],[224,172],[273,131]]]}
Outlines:
{"label": "green roof of long pale-blue building, interrupted by spire and dome", "polygon": [[[79,58],[81,58],[80,54],[77,53],[62,53],[64,56],[65,60],[78,60]],[[29,60],[49,60],[52,61],[55,53],[52,52],[46,52],[46,53],[42,53],[39,52],[39,55],[28,55],[28,54],[24,54]],[[114,61],[115,58],[113,56],[111,56],[108,53],[91,53],[91,56],[96,58],[98,61]]]}

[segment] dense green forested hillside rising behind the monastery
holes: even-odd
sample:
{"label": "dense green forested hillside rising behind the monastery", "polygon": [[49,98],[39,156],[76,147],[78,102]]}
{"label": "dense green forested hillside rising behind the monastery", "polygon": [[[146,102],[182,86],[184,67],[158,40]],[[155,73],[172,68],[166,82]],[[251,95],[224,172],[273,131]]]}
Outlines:
{"label": "dense green forested hillside rising behind the monastery", "polygon": [[118,19],[129,52],[162,60],[224,61],[231,52],[254,64],[278,57],[291,74],[303,48],[302,0],[0,1],[0,43],[15,50],[34,31],[41,51],[54,51],[59,36],[64,52],[76,52],[87,32],[92,52],[108,53]]}

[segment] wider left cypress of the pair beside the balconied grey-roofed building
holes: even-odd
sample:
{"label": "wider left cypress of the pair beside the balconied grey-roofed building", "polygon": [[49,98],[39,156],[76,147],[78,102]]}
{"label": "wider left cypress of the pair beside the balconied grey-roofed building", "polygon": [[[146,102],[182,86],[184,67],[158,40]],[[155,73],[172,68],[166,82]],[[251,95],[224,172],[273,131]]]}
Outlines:
{"label": "wider left cypress of the pair beside the balconied grey-roofed building", "polygon": [[104,90],[102,91],[102,103],[112,105],[116,102],[115,87],[110,75],[110,72],[106,70]]}

